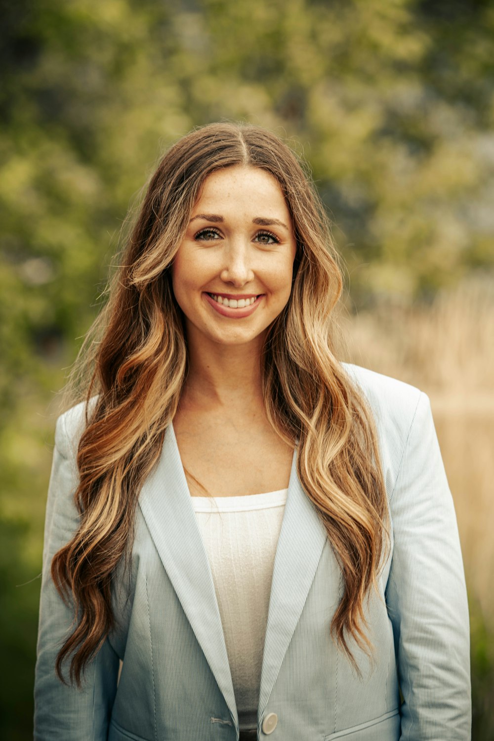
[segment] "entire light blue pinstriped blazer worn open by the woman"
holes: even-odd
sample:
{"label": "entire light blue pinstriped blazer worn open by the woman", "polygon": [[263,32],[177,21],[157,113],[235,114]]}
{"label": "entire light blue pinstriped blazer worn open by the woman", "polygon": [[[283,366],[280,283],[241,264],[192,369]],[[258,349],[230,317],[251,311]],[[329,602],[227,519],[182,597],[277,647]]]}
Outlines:
{"label": "entire light blue pinstriped blazer worn open by the woman", "polygon": [[[470,739],[467,594],[453,501],[427,396],[347,366],[378,430],[391,554],[366,607],[375,660],[361,677],[330,638],[341,570],[296,472],[276,550],[258,702],[258,740]],[[213,578],[173,426],[139,496],[129,576],[115,579],[116,628],[81,690],[56,654],[73,613],[50,579],[76,530],[79,405],[56,426],[44,536],[35,739],[236,741],[238,715]],[[460,451],[458,451],[459,453]],[[118,681],[119,659],[123,661]],[[400,704],[399,688],[404,698]]]}

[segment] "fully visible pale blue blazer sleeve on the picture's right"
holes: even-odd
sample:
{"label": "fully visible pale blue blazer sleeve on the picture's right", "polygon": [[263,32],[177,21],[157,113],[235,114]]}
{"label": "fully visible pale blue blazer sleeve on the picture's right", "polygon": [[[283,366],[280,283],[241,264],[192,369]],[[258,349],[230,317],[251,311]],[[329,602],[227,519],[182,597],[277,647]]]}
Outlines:
{"label": "fully visible pale blue blazer sleeve on the picture's right", "polygon": [[470,633],[453,499],[429,399],[420,394],[390,496],[401,741],[470,740]]}

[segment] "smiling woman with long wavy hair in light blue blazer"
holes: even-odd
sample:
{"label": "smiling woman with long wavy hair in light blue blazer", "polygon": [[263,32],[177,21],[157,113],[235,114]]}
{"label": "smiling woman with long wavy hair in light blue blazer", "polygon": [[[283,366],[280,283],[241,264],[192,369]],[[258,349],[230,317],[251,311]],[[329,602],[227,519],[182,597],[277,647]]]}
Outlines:
{"label": "smiling woman with long wavy hair in light blue blazer", "polygon": [[470,737],[430,405],[338,362],[340,291],[276,136],[164,156],[57,422],[36,739]]}

